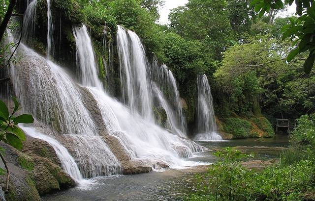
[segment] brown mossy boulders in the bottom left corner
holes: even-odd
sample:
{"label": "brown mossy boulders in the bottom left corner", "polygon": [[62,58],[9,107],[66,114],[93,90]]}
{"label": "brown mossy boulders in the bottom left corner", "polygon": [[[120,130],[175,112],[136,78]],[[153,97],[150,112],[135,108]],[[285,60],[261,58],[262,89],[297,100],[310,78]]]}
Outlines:
{"label": "brown mossy boulders in the bottom left corner", "polygon": [[[61,169],[56,152],[48,143],[28,137],[22,152],[4,143],[0,145],[5,150],[4,158],[10,170],[7,201],[39,201],[40,195],[75,186],[74,180]],[[0,176],[1,186],[5,178],[6,174]]]}

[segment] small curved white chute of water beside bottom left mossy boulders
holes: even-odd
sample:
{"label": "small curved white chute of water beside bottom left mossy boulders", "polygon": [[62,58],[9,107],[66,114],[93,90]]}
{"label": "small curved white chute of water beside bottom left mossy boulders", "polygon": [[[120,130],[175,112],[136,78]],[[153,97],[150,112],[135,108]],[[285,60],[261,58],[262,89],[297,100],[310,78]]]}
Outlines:
{"label": "small curved white chute of water beside bottom left mossy boulders", "polygon": [[25,126],[20,127],[27,135],[48,142],[56,151],[60,162],[62,163],[63,170],[68,173],[72,178],[74,178],[76,182],[82,182],[83,176],[81,175],[80,170],[75,163],[73,157],[57,140],[38,132],[35,128]]}

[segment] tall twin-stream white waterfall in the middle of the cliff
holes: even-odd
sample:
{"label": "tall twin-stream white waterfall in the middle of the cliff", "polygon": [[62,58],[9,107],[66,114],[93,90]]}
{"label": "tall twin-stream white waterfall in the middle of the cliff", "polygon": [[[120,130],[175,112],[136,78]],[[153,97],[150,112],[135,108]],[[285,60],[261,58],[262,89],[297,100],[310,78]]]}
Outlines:
{"label": "tall twin-stream white waterfall in the middle of the cliff", "polygon": [[147,59],[140,38],[133,31],[118,26],[118,54],[124,102],[132,112],[153,121],[152,92],[147,75]]}

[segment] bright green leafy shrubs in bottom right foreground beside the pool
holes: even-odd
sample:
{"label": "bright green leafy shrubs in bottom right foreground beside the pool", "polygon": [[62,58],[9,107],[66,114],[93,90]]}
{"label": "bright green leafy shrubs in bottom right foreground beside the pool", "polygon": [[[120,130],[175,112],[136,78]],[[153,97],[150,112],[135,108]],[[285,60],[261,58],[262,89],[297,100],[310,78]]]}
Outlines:
{"label": "bright green leafy shrubs in bottom right foreground beside the pool", "polygon": [[262,172],[244,168],[239,151],[227,148],[215,155],[221,161],[205,175],[197,175],[200,185],[186,200],[301,200],[314,188],[315,163],[302,160],[292,166],[270,166]]}

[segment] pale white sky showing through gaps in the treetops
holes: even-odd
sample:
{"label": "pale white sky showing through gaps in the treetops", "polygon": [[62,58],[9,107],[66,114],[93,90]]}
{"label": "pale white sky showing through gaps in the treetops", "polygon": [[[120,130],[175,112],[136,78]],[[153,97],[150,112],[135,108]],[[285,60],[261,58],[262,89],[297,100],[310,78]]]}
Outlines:
{"label": "pale white sky showing through gaps in the treetops", "polygon": [[[168,23],[168,14],[170,10],[178,6],[183,6],[188,2],[188,0],[165,0],[165,5],[159,10],[160,18],[158,23],[165,25]],[[294,3],[288,7],[287,11],[283,11],[279,16],[286,17],[288,15],[294,14],[295,5]]]}

